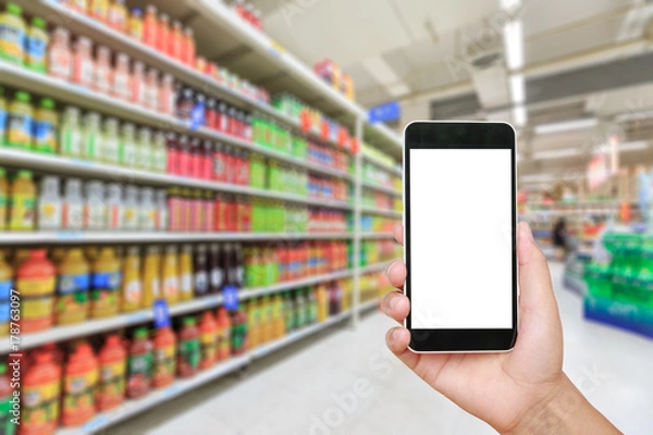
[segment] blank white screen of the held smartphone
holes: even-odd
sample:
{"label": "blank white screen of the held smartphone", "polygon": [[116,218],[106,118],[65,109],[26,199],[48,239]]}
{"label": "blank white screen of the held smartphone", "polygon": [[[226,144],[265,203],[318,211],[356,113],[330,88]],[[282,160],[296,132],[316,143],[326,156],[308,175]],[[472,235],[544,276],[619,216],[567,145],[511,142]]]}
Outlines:
{"label": "blank white screen of the held smartphone", "polygon": [[510,152],[410,150],[412,328],[513,327]]}

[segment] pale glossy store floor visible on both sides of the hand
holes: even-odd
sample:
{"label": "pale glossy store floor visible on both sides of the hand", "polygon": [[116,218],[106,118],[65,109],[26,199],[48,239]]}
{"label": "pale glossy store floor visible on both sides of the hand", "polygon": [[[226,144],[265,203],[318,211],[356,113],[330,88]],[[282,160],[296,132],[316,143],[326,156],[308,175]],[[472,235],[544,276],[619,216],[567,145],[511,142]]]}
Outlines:
{"label": "pale glossy store floor visible on both sides of the hand", "polygon": [[[580,298],[562,288],[565,371],[627,434],[653,433],[653,341],[581,318]],[[257,361],[230,376],[107,431],[108,434],[391,435],[492,434],[428,387],[385,349],[380,313]],[[309,338],[310,340],[310,338]],[[359,395],[356,395],[358,393]]]}

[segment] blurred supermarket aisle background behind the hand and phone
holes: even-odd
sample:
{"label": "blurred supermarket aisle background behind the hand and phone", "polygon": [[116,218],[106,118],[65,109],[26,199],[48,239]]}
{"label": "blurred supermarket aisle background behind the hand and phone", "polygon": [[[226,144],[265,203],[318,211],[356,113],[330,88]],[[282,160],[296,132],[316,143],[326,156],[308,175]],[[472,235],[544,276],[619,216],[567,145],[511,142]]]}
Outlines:
{"label": "blurred supermarket aisle background behind the hand and phone", "polygon": [[646,0],[0,0],[0,432],[493,433],[377,310],[403,128],[455,119],[515,126],[565,371],[651,433],[652,38]]}

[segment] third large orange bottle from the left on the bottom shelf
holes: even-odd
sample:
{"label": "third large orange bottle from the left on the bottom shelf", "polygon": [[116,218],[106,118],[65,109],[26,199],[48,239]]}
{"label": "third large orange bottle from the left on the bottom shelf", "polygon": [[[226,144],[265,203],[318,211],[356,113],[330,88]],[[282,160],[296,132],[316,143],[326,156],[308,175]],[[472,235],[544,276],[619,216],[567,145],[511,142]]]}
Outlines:
{"label": "third large orange bottle from the left on the bottom shelf", "polygon": [[125,374],[127,352],[120,335],[110,335],[98,356],[100,380],[96,403],[99,411],[118,407],[125,399]]}

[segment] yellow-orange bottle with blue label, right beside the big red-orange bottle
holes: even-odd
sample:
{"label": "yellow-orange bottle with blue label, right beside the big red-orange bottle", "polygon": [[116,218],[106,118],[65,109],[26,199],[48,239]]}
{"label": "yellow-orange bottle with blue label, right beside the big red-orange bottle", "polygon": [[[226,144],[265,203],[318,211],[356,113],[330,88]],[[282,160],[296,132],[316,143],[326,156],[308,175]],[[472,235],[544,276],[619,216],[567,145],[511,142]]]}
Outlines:
{"label": "yellow-orange bottle with blue label, right beside the big red-orange bottle", "polygon": [[70,249],[58,264],[57,273],[57,324],[84,322],[88,319],[90,268],[82,249]]}

